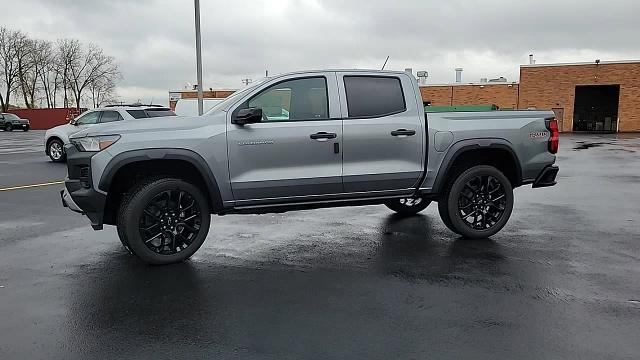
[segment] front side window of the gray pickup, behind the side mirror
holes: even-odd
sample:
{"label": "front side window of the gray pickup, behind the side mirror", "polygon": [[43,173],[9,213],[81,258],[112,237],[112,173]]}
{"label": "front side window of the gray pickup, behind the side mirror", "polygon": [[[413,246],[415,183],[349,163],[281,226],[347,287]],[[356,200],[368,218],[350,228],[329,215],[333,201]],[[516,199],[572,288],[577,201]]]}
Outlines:
{"label": "front side window of the gray pickup, behind the side mirror", "polygon": [[329,118],[324,77],[283,81],[249,100],[262,109],[264,121],[323,120]]}

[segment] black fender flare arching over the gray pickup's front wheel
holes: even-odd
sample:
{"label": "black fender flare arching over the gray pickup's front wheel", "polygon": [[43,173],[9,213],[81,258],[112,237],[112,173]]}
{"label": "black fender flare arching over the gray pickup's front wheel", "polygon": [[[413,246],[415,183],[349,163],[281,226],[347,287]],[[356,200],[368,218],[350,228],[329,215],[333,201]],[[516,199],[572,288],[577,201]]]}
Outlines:
{"label": "black fender flare arching over the gray pickup's front wheel", "polygon": [[102,172],[102,176],[100,177],[100,181],[98,183],[98,188],[101,191],[108,192],[115,175],[125,165],[154,160],[181,160],[193,165],[195,169],[200,173],[200,176],[207,186],[207,190],[211,198],[211,203],[214,207],[213,210],[222,209],[223,202],[220,191],[221,189],[218,186],[218,181],[211,171],[211,168],[202,156],[192,150],[187,149],[154,148],[122,152],[114,156],[104,168],[104,171]]}

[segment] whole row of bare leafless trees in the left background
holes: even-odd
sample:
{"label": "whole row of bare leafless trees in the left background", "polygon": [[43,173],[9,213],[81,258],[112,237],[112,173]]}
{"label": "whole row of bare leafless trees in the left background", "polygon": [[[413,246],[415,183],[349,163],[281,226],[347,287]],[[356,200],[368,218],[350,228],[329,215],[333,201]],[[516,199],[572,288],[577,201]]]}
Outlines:
{"label": "whole row of bare leafless trees in the left background", "polygon": [[0,27],[0,105],[80,108],[115,102],[118,64],[95,44],[32,39]]}

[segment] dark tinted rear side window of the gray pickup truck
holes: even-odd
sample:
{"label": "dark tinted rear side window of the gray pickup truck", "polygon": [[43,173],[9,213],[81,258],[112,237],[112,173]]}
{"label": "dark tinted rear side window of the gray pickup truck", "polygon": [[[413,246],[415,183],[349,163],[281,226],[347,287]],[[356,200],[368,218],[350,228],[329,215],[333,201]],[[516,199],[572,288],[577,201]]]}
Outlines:
{"label": "dark tinted rear side window of the gray pickup truck", "polygon": [[400,79],[345,76],[349,117],[380,117],[406,110]]}

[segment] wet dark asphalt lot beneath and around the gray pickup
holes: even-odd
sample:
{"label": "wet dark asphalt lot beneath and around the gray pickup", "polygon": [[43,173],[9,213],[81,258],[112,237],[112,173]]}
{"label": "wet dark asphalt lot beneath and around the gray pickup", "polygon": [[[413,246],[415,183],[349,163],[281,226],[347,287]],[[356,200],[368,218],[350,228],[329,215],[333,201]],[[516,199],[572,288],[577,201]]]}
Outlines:
{"label": "wet dark asphalt lot beneath and around the gray pickup", "polygon": [[[64,178],[41,137],[0,132],[0,188]],[[491,240],[435,205],[234,215],[165,267],[59,185],[0,191],[0,359],[638,359],[640,135],[563,136],[558,163]]]}

